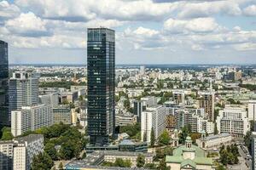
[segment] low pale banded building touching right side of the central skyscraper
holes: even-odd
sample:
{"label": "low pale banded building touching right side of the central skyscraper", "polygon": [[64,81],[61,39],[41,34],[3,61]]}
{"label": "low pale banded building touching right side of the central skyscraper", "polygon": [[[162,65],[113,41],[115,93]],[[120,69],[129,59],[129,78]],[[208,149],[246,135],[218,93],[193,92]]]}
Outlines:
{"label": "low pale banded building touching right side of the central skyscraper", "polygon": [[134,125],[137,122],[137,116],[130,112],[115,115],[115,126],[124,127],[127,125]]}

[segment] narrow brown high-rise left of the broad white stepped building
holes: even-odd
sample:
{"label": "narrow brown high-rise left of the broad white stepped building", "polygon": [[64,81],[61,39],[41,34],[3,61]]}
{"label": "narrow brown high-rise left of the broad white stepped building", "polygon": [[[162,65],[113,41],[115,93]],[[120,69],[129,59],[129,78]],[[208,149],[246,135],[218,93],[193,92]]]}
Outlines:
{"label": "narrow brown high-rise left of the broad white stepped building", "polygon": [[214,99],[215,93],[211,90],[209,92],[199,92],[199,107],[204,108],[207,118],[214,121]]}

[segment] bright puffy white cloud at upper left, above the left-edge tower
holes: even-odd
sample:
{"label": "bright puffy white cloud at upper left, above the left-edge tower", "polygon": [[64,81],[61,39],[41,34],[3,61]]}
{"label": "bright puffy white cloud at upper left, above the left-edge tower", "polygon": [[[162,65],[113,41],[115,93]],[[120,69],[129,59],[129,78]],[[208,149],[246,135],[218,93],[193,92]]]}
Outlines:
{"label": "bright puffy white cloud at upper left, above the left-edge tower", "polygon": [[32,12],[26,14],[20,14],[19,17],[7,20],[5,26],[13,34],[19,34],[27,37],[40,37],[49,35],[47,31],[46,21],[40,19]]}

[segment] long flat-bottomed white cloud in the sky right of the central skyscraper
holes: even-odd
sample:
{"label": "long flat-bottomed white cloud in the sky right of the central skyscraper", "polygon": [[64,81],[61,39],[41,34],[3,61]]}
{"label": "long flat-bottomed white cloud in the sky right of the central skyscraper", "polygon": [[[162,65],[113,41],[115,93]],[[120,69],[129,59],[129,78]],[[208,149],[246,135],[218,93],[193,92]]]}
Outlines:
{"label": "long flat-bottomed white cloud in the sky right of the central skyscraper", "polygon": [[193,20],[169,19],[164,23],[164,29],[172,33],[188,33],[216,31],[218,24],[213,18],[198,18]]}

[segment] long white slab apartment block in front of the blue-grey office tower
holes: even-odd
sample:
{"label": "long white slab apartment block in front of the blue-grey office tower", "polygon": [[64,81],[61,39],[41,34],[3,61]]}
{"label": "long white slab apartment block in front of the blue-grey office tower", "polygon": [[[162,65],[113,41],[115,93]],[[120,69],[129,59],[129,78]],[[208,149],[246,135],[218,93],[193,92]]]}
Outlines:
{"label": "long white slab apartment block in front of the blue-grey office tower", "polygon": [[50,106],[44,104],[22,106],[20,111],[12,111],[11,117],[11,132],[14,136],[49,127],[53,121]]}

